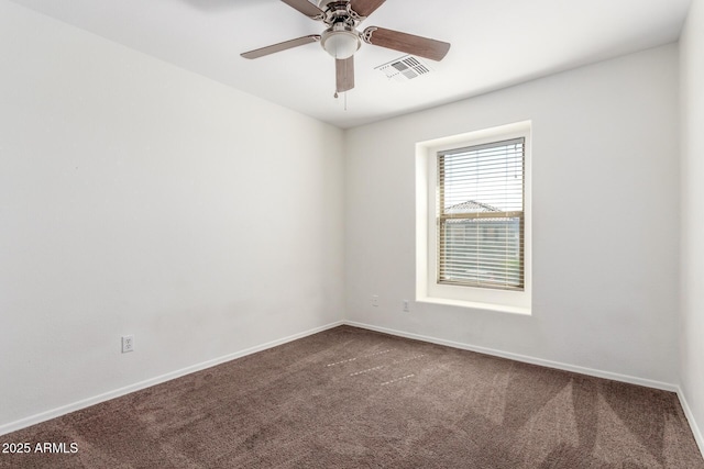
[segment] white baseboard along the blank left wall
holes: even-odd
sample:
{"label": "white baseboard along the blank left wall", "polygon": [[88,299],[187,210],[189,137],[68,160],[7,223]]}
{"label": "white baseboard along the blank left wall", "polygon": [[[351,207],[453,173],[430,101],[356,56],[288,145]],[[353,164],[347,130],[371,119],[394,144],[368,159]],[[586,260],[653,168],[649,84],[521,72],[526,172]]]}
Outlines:
{"label": "white baseboard along the blank left wall", "polygon": [[299,338],[307,337],[312,334],[318,334],[319,332],[327,331],[333,327],[338,327],[343,325],[343,321],[338,321],[321,327],[316,327],[310,331],[305,331],[298,334],[290,335],[288,337],[279,338],[277,340],[267,342],[266,344],[257,345],[255,347],[245,348],[244,350],[235,351],[233,354],[228,354],[223,357],[215,358],[212,360],[204,361],[201,364],[193,365],[176,371],[168,372],[166,375],[161,375],[155,378],[151,378],[144,381],[135,382],[134,384],[125,386],[124,388],[116,389],[112,391],[105,392],[99,395],[95,395],[92,398],[84,399],[81,401],[73,402],[67,405],[63,405],[61,407],[52,409],[50,411],[45,411],[35,415],[31,415],[25,418],[21,418],[19,421],[10,422],[4,425],[0,425],[0,435],[4,435],[11,432],[16,432],[18,429],[26,428],[28,426],[35,425],[37,423],[42,423],[70,412],[79,411],[85,407],[89,407],[90,405],[98,404],[100,402],[109,401],[111,399],[120,398],[122,395],[129,394],[131,392],[135,392],[145,388],[150,388],[155,384],[161,384],[166,381],[170,381],[176,378],[180,378],[183,376],[200,371],[207,368],[215,367],[217,365],[223,364],[226,361],[234,360],[235,358],[241,358],[246,355],[255,354],[257,351],[266,350],[267,348],[273,348],[278,345],[286,344],[288,342],[297,340]]}

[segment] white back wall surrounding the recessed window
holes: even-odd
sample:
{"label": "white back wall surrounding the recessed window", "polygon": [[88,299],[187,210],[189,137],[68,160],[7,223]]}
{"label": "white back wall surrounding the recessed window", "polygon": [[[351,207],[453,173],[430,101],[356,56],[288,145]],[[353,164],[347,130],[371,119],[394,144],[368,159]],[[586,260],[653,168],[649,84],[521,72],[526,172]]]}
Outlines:
{"label": "white back wall surrounding the recessed window", "polygon": [[[668,45],[349,131],[348,317],[674,386],[678,80]],[[403,313],[415,298],[415,143],[526,120],[532,315],[428,303]]]}

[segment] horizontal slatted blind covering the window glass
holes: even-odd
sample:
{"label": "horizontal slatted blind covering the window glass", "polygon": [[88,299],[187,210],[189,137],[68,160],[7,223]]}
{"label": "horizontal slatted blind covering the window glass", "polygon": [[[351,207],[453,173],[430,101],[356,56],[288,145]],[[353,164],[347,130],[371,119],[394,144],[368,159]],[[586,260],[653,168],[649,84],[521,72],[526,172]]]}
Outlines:
{"label": "horizontal slatted blind covering the window glass", "polygon": [[438,153],[438,282],[524,289],[525,138]]}

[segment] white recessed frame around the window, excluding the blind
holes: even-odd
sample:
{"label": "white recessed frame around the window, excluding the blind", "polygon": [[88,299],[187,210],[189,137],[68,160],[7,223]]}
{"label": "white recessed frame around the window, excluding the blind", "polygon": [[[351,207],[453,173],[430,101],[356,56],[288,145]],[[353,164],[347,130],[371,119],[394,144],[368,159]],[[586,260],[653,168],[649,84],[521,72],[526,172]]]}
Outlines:
{"label": "white recessed frame around the window, excluding the blind", "polygon": [[[532,210],[530,121],[453,135],[416,144],[416,301],[530,314],[532,290]],[[525,138],[524,182],[524,290],[497,290],[437,281],[438,152],[447,152],[510,138]]]}

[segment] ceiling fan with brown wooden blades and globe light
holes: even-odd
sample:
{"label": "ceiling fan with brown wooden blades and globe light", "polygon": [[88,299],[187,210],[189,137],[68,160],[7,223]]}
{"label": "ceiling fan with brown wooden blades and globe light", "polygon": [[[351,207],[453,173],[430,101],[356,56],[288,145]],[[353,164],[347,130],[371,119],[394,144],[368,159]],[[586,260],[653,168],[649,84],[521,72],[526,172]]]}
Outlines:
{"label": "ceiling fan with brown wooden blades and globe light", "polygon": [[321,34],[310,34],[271,46],[245,52],[244,58],[258,58],[305,44],[320,42],[322,48],[336,59],[336,97],[338,92],[354,88],[354,53],[362,41],[431,60],[442,60],[450,49],[449,43],[416,36],[384,27],[369,26],[362,33],[359,24],[386,0],[282,0],[311,20],[322,21],[328,27]]}

